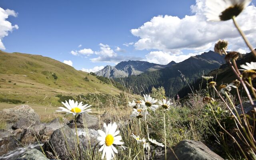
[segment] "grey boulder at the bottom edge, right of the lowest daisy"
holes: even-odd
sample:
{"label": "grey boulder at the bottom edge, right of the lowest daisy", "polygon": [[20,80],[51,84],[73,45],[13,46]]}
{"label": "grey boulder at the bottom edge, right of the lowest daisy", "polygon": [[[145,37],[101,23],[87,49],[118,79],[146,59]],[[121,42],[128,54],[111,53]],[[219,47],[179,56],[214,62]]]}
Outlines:
{"label": "grey boulder at the bottom edge, right of the lowest daisy", "polygon": [[[173,150],[179,160],[224,160],[200,141],[183,140]],[[167,159],[176,160],[176,157],[170,152]],[[164,160],[164,157],[160,160]]]}

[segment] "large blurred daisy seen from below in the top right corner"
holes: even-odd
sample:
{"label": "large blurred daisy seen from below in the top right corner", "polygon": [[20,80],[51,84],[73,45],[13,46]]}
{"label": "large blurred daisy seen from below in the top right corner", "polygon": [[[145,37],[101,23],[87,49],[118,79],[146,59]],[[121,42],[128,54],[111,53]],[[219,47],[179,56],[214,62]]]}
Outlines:
{"label": "large blurred daisy seen from below in the top right corner", "polygon": [[252,0],[206,0],[208,21],[230,20],[238,16]]}

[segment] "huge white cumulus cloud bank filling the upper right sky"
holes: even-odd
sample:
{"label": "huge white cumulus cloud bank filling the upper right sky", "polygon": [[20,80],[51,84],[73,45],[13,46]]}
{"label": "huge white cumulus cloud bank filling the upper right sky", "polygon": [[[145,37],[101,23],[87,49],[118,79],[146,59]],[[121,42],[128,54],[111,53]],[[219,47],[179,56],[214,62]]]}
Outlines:
{"label": "huge white cumulus cloud bank filling the upper right sky", "polygon": [[[180,53],[182,50],[210,50],[219,39],[229,41],[229,49],[238,50],[246,45],[234,27],[232,20],[207,22],[205,0],[196,0],[191,6],[192,15],[155,16],[131,33],[140,39],[134,44],[137,50],[156,49],[163,52]],[[256,44],[256,7],[248,6],[237,21],[252,44]],[[255,47],[255,46],[254,46]]]}

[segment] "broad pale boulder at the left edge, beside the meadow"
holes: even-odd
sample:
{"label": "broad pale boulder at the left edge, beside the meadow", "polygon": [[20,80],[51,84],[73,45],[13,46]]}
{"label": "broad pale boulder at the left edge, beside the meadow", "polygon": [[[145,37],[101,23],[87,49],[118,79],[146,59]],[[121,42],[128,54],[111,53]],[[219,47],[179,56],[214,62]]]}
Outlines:
{"label": "broad pale boulder at the left edge, beside the meadow", "polygon": [[38,114],[28,105],[0,110],[0,117],[8,123],[15,123],[22,118],[28,118],[31,124],[40,122]]}

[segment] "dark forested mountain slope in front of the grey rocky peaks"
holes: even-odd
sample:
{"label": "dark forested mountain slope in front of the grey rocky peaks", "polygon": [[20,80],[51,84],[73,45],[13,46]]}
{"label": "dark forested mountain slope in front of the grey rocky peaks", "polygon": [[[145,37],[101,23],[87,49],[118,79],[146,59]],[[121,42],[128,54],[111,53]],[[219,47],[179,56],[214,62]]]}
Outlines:
{"label": "dark forested mountain slope in front of the grey rocky peaks", "polygon": [[198,56],[192,56],[171,67],[154,72],[142,73],[138,76],[129,76],[122,78],[122,80],[127,86],[133,87],[135,93],[140,93],[143,90],[151,90],[153,86],[163,86],[167,96],[176,96],[179,90],[187,85],[182,80],[178,70],[185,75],[189,83],[192,83],[201,77],[203,72],[207,74],[211,70],[219,68],[222,64],[224,64],[224,57],[213,51],[209,51]]}

